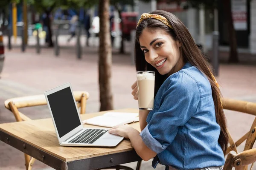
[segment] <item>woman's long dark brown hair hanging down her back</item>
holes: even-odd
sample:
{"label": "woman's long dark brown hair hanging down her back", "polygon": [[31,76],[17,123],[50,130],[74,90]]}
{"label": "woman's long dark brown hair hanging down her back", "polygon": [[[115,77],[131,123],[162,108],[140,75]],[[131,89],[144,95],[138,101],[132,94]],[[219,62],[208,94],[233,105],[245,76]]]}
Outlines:
{"label": "woman's long dark brown hair hanging down her back", "polygon": [[195,44],[191,34],[189,33],[186,26],[172,13],[166,12],[166,11],[152,11],[150,14],[159,14],[163,17],[166,17],[166,19],[171,24],[172,28],[167,26],[166,24],[162,23],[159,20],[156,19],[146,19],[143,20],[139,26],[136,29],[136,40],[135,40],[135,65],[137,71],[155,71],[155,95],[157,91],[159,90],[160,86],[163,84],[163,82],[166,80],[168,75],[161,75],[158,73],[157,69],[154,68],[152,65],[150,65],[145,60],[145,56],[143,51],[140,49],[140,42],[139,37],[142,34],[142,31],[145,28],[150,29],[161,29],[169,33],[172,38],[176,41],[179,41],[181,46],[181,54],[183,55],[183,61],[184,62],[190,62],[192,65],[194,65],[198,70],[200,70],[202,73],[204,73],[212,87],[212,98],[215,105],[215,116],[216,121],[218,125],[221,127],[221,133],[218,138],[218,143],[221,146],[221,149],[225,153],[227,150],[227,144],[228,144],[228,133],[227,133],[227,123],[226,123],[226,117],[224,115],[224,111],[222,109],[221,105],[221,93],[218,88],[218,86],[214,82],[214,78],[212,77],[210,65],[205,59],[205,57],[202,55],[200,49]]}

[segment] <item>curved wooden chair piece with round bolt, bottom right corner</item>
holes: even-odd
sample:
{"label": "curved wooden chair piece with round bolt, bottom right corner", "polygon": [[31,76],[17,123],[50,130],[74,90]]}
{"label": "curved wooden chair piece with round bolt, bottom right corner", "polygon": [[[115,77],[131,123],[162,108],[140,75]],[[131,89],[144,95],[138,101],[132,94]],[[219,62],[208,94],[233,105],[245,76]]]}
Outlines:
{"label": "curved wooden chair piece with round bolt, bottom right corner", "polygon": [[232,170],[232,167],[235,167],[236,170],[242,170],[244,167],[247,167],[249,164],[253,164],[255,161],[256,148],[245,150],[241,153],[230,151],[227,155],[223,170]]}

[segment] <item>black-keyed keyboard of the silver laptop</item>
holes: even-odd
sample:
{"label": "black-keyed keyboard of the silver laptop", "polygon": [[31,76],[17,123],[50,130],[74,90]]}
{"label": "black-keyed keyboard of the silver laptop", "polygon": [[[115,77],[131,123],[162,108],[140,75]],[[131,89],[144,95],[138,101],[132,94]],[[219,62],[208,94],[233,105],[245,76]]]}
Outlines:
{"label": "black-keyed keyboard of the silver laptop", "polygon": [[84,130],[83,133],[81,133],[79,136],[76,136],[76,138],[72,139],[68,143],[85,143],[85,144],[92,144],[95,142],[99,137],[104,135],[108,130],[103,129],[87,129]]}

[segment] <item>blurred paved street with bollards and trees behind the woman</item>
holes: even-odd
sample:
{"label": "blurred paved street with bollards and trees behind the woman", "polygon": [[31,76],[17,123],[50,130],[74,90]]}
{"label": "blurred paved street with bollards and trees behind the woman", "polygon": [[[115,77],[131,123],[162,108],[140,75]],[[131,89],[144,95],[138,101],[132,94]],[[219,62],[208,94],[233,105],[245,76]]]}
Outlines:
{"label": "blurred paved street with bollards and trees behind the woman", "polygon": [[[65,82],[75,91],[88,91],[86,112],[98,112],[99,51],[103,49],[99,2],[15,2],[0,2],[0,123],[15,122],[4,107],[6,99],[43,94]],[[134,30],[142,13],[156,9],[172,12],[186,25],[214,68],[223,97],[256,102],[256,0],[110,0],[112,75],[107,78],[111,80],[113,109],[138,107],[131,95],[136,80]],[[47,106],[20,111],[31,119],[50,118]],[[225,114],[234,140],[250,129],[255,118],[233,111]],[[136,162],[128,166],[135,168]],[[0,142],[0,170],[24,169],[24,154]],[[32,169],[52,168],[35,161]],[[143,161],[141,167],[148,169],[153,169],[151,160]],[[163,169],[157,166],[157,170]]]}

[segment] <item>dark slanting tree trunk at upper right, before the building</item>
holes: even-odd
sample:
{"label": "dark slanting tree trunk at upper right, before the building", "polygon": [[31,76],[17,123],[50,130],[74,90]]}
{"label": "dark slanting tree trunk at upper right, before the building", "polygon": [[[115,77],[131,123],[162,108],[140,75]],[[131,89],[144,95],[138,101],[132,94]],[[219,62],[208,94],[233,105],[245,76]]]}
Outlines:
{"label": "dark slanting tree trunk at upper right, before the building", "polygon": [[228,22],[228,32],[229,32],[229,43],[230,43],[230,55],[228,62],[239,62],[237,53],[237,41],[236,41],[236,31],[233,24],[232,10],[231,10],[231,0],[224,0],[224,11],[226,11],[227,22]]}

